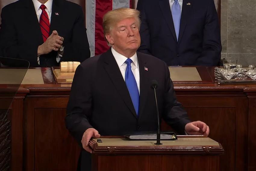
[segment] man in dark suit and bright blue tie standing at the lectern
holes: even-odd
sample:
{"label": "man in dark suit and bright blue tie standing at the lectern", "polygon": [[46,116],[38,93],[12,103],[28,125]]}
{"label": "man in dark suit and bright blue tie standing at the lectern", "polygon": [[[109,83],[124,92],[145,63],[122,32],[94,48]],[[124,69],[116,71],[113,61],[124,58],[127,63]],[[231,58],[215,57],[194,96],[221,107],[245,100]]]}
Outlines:
{"label": "man in dark suit and bright blue tie standing at the lectern", "polygon": [[[160,119],[179,134],[209,134],[201,121],[190,122],[176,101],[173,82],[164,61],[136,52],[140,45],[139,11],[120,8],[103,18],[107,52],[80,64],[73,79],[67,105],[66,127],[87,152],[91,137],[99,134],[156,131],[157,114],[151,80],[156,90]],[[89,166],[89,153],[82,151],[82,165]],[[84,166],[81,168],[83,169]]]}

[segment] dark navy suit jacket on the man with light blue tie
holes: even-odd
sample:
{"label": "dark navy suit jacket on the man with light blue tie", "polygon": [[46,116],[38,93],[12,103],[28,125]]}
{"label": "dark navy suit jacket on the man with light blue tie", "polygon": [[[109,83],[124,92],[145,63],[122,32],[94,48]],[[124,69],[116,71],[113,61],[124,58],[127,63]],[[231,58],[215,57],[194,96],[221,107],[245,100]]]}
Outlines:
{"label": "dark navy suit jacket on the man with light blue tie", "polygon": [[183,0],[177,41],[169,0],[139,0],[139,52],[167,65],[216,66],[220,60],[220,27],[213,0]]}

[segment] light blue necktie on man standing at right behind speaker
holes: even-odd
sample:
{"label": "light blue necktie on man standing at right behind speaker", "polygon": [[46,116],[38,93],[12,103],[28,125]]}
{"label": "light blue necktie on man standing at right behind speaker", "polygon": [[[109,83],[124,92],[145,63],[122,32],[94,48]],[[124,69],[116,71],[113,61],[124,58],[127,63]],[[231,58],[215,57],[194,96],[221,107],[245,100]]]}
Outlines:
{"label": "light blue necktie on man standing at right behind speaker", "polygon": [[174,29],[176,33],[176,38],[178,41],[179,38],[179,32],[180,32],[180,4],[178,0],[174,0],[173,6],[172,6],[172,16],[173,16],[173,24]]}

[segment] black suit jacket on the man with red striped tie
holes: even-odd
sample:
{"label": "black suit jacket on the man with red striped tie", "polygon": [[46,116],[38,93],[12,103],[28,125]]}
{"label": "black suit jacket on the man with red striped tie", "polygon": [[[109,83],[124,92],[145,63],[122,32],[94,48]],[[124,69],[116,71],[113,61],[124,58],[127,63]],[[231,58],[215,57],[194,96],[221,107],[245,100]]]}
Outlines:
{"label": "black suit jacket on the man with red striped tie", "polygon": [[[59,65],[55,51],[41,55],[40,65],[37,63],[37,49],[43,44],[43,39],[32,0],[19,0],[5,6],[1,17],[0,56],[26,59],[31,67]],[[64,37],[64,55],[60,61],[82,62],[90,57],[84,15],[78,4],[53,0],[50,34],[53,30]],[[8,61],[4,64],[8,64]]]}

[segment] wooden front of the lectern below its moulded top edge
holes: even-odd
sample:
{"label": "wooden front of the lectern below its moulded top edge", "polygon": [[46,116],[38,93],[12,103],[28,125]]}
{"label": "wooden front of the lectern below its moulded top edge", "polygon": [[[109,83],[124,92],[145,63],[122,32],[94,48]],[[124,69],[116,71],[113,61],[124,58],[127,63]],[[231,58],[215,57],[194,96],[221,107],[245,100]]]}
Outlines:
{"label": "wooden front of the lectern below its moulded top edge", "polygon": [[[128,155],[128,156],[106,156],[98,158],[100,166],[92,165],[92,170],[99,171],[141,171],[141,170],[173,170],[173,171],[195,171],[195,170],[218,170],[219,156],[194,156],[194,155]],[[113,161],[115,161],[113,163]],[[131,164],[132,163],[132,164]],[[113,168],[113,166],[116,166]]]}

